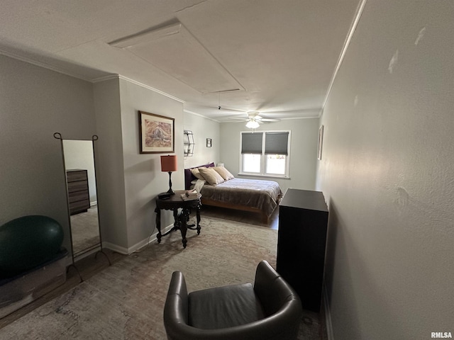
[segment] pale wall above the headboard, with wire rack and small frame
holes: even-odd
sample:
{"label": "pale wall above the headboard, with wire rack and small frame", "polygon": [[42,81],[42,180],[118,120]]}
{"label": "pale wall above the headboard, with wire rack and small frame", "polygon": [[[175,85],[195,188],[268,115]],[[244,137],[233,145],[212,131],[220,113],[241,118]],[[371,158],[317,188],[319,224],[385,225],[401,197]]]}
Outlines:
{"label": "pale wall above the headboard, with wire rack and small frame", "polygon": [[[220,127],[214,120],[201,115],[184,112],[184,130],[194,134],[194,154],[184,157],[184,169],[214,162],[218,163],[220,145]],[[206,147],[206,138],[211,138],[211,147]]]}

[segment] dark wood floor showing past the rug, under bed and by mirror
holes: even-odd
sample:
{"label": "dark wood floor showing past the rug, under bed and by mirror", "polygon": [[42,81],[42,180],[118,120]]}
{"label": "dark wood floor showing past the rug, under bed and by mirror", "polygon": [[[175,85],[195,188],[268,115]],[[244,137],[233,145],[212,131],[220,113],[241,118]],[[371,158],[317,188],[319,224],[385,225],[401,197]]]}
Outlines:
{"label": "dark wood floor showing past the rug, under bed and by mirror", "polygon": [[[247,223],[250,225],[258,225],[260,227],[268,227],[271,229],[277,229],[278,227],[278,220],[279,220],[279,207],[272,213],[268,222],[263,222],[260,215],[254,212],[245,212],[239,210],[231,210],[226,208],[218,208],[218,207],[210,207],[208,205],[204,205],[201,209],[201,221],[203,222],[204,216],[208,217],[217,217],[222,218],[225,220],[231,220],[236,222]],[[126,255],[118,254],[115,251],[111,251],[109,249],[104,249],[104,252],[109,256],[111,263],[115,263],[119,261]],[[109,267],[109,261],[107,261],[106,257],[103,254],[98,253],[96,256],[92,254],[90,256],[85,257],[84,259],[80,259],[76,262],[77,270],[70,266],[68,267],[67,271],[67,279],[63,285],[52,290],[52,292],[39,297],[37,300],[31,302],[30,304],[22,307],[16,312],[13,312],[6,317],[0,319],[0,329],[5,327],[7,324],[16,321],[23,315],[35,310],[36,308],[44,305],[46,302],[52,300],[53,298],[66,293],[68,290],[74,288],[81,282],[81,276],[83,280],[87,280],[94,276],[94,274],[99,273],[100,271],[104,270],[105,268]],[[80,276],[79,276],[80,273]]]}

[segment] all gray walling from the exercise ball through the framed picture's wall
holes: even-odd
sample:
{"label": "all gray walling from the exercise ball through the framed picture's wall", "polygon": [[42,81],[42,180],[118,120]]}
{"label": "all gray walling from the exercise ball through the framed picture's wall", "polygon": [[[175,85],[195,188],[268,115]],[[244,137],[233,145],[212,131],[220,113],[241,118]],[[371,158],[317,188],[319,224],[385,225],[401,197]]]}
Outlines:
{"label": "all gray walling from the exercise ball through the framed picture's wall", "polygon": [[[70,249],[60,132],[95,142],[103,242],[131,252],[155,233],[155,203],[167,191],[160,154],[139,154],[138,110],[175,118],[175,189],[184,188],[182,103],[124,79],[91,84],[0,55],[0,224],[23,215],[48,215],[65,230]],[[162,227],[172,224],[170,212]]]}

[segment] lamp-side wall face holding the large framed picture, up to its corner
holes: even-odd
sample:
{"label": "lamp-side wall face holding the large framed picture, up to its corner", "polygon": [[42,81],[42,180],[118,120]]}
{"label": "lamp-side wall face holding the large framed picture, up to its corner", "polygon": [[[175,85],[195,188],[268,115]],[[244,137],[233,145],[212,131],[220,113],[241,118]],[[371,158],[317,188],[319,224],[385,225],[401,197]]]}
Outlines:
{"label": "lamp-side wall face holding the large framed picture, up to its corner", "polygon": [[[169,189],[169,174],[161,171],[161,155],[140,154],[138,111],[175,118],[175,154],[178,170],[172,173],[172,189],[184,189],[183,104],[131,81],[120,79],[123,169],[129,251],[148,241],[155,229],[155,197]],[[162,211],[161,226],[173,224],[170,211]],[[128,251],[128,252],[129,252]]]}

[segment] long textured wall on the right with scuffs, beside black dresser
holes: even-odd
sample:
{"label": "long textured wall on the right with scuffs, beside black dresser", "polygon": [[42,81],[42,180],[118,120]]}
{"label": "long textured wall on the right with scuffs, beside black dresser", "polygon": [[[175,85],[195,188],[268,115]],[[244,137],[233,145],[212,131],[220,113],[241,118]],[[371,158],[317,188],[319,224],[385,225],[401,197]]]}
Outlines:
{"label": "long textured wall on the right with scuffs, beside black dresser", "polygon": [[454,6],[367,1],[328,98],[333,339],[454,332]]}

